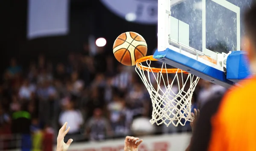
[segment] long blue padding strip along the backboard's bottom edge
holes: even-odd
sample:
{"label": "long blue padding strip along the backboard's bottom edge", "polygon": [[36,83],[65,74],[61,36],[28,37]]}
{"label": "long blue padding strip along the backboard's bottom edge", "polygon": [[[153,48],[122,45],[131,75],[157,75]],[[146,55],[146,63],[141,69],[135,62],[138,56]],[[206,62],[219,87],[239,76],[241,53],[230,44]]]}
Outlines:
{"label": "long blue padding strip along the backboard's bottom edge", "polygon": [[198,60],[189,58],[186,55],[180,54],[179,52],[169,48],[162,52],[156,51],[153,57],[158,61],[164,62],[181,70],[185,70],[195,76],[223,87],[228,88],[234,84],[233,81],[226,78],[223,71],[210,67]]}

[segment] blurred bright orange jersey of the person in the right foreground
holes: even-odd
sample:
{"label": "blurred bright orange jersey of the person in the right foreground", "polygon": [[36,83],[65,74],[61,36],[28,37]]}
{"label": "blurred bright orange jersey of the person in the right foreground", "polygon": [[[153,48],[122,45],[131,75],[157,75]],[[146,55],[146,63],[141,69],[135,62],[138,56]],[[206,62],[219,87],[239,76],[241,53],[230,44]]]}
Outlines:
{"label": "blurred bright orange jersey of the person in the right foreground", "polygon": [[256,151],[256,77],[229,90],[211,118],[208,151]]}

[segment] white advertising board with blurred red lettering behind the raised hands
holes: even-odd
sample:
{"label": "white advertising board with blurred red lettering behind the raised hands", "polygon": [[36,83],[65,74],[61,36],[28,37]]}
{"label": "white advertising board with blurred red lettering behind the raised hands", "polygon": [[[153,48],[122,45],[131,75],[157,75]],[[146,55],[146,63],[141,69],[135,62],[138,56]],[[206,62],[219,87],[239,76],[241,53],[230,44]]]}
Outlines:
{"label": "white advertising board with blurred red lettering behind the raised hands", "polygon": [[[141,137],[143,143],[139,151],[185,151],[190,134],[172,134]],[[125,138],[124,138],[125,139]],[[103,142],[72,143],[69,151],[123,151],[124,139]]]}

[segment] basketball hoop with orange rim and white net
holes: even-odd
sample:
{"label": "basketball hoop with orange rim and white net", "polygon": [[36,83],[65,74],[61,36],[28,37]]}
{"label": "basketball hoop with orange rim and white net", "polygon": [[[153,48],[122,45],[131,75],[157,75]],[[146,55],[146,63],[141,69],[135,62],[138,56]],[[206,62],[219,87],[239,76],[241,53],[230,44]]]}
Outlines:
{"label": "basketball hoop with orange rim and white net", "polygon": [[165,63],[161,68],[151,67],[151,61],[157,61],[153,55],[140,58],[135,63],[135,70],[151,98],[153,111],[150,123],[164,123],[168,127],[171,123],[184,126],[187,121],[192,122],[191,99],[199,78],[180,69],[168,69]]}

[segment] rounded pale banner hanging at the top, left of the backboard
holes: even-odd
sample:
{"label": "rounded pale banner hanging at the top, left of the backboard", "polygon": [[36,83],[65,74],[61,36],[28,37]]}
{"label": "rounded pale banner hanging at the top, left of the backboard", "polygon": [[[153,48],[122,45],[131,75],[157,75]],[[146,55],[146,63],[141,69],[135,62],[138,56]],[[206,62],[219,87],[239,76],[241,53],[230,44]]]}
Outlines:
{"label": "rounded pale banner hanging at the top, left of the backboard", "polygon": [[157,0],[101,0],[114,14],[128,21],[157,23]]}

